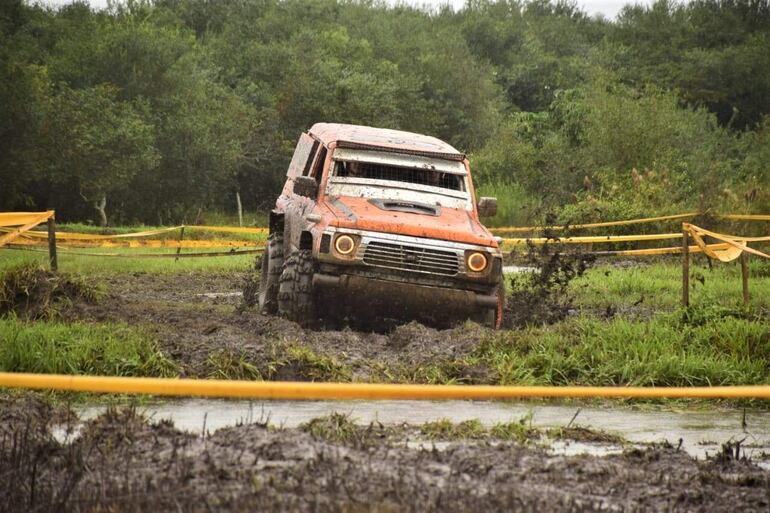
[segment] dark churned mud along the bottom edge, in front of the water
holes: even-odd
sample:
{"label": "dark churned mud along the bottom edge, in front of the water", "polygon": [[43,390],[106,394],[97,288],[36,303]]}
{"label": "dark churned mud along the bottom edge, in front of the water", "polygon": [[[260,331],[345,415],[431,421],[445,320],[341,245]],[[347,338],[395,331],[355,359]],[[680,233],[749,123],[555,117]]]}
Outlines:
{"label": "dark churned mud along the bottom edge, in front of the water", "polygon": [[[0,511],[767,511],[770,472],[675,447],[603,458],[516,442],[409,448],[247,424],[208,436],[111,410],[62,444],[66,412],[0,399]],[[333,437],[332,437],[333,438]]]}

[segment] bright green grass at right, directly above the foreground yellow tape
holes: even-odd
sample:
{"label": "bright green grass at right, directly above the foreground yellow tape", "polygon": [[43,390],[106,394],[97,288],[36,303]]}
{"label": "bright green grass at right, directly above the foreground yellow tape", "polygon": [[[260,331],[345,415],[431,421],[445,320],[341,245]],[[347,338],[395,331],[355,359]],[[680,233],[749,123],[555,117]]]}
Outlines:
{"label": "bright green grass at right, directly above the foreground yellow tape", "polygon": [[[724,313],[724,312],[723,312]],[[706,386],[770,383],[762,319],[680,313],[629,321],[571,318],[502,331],[479,348],[501,384]]]}

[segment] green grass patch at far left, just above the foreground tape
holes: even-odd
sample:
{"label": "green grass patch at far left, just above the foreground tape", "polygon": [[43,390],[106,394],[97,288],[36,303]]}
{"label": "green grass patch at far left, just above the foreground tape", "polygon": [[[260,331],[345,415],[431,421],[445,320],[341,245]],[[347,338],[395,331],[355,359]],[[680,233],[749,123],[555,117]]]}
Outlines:
{"label": "green grass patch at far left, just above the foreground tape", "polygon": [[22,322],[0,318],[4,372],[171,377],[172,360],[157,342],[125,324]]}

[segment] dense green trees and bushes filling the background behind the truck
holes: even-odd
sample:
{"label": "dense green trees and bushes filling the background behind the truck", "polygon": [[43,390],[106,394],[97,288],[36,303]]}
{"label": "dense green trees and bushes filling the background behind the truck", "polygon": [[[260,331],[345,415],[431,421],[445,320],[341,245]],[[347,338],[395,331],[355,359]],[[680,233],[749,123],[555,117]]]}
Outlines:
{"label": "dense green trees and bushes filling the background behind the truck", "polygon": [[98,223],[269,208],[302,130],[468,152],[498,222],[770,210],[770,2],[0,8],[0,211]]}

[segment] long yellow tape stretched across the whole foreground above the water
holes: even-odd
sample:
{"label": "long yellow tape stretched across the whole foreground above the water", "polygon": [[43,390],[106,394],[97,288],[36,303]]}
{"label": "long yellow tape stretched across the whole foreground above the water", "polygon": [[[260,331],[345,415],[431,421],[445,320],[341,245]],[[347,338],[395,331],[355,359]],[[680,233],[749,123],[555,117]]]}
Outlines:
{"label": "long yellow tape stretched across the whole foreground above the water", "polygon": [[584,387],[395,385],[215,379],[126,378],[0,372],[0,386],[78,392],[242,399],[519,399],[528,397],[770,399],[770,385],[715,387]]}

